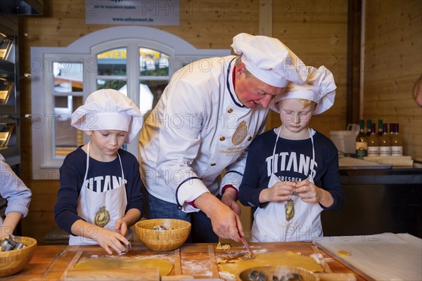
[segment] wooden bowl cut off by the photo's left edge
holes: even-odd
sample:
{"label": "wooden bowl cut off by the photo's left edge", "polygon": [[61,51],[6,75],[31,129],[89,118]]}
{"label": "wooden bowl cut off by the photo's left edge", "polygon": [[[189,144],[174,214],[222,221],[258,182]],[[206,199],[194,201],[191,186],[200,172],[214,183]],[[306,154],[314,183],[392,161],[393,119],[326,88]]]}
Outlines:
{"label": "wooden bowl cut off by the photo's left edge", "polygon": [[0,277],[18,273],[30,263],[37,248],[37,240],[31,237],[22,237],[21,242],[26,247],[11,251],[0,251]]}

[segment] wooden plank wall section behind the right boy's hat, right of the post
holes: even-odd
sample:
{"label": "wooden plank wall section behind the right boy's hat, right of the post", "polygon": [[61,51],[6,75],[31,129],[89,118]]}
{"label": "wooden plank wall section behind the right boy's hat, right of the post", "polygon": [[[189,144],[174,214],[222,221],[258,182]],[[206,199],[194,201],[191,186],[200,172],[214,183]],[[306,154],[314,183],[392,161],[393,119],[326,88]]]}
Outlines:
{"label": "wooden plank wall section behind the right boy's hat, right of the post", "polygon": [[[286,44],[306,65],[325,65],[333,72],[335,103],[322,115],[312,117],[312,128],[329,136],[345,130],[347,68],[347,0],[274,1],[273,36]],[[273,126],[280,117],[271,113]]]}

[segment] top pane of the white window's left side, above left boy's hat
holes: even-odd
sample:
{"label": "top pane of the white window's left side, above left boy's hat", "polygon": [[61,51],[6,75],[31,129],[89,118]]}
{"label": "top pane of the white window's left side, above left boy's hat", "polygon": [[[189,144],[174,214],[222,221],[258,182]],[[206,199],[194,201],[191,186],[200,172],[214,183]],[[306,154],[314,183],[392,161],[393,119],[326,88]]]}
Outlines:
{"label": "top pane of the white window's left side, above left boy's hat", "polygon": [[82,63],[53,63],[54,91],[82,92],[84,67]]}

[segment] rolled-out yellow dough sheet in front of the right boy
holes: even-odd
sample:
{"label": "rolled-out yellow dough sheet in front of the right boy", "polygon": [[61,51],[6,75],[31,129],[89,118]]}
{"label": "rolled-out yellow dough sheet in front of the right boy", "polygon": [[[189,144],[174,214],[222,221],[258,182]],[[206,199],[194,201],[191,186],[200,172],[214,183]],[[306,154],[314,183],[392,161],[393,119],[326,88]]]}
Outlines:
{"label": "rolled-out yellow dough sheet in front of the right boy", "polygon": [[324,271],[324,268],[322,268],[312,257],[302,256],[293,253],[292,251],[256,254],[256,259],[219,264],[222,271],[231,273],[235,276],[240,274],[243,270],[256,268],[258,266],[295,266],[314,272]]}

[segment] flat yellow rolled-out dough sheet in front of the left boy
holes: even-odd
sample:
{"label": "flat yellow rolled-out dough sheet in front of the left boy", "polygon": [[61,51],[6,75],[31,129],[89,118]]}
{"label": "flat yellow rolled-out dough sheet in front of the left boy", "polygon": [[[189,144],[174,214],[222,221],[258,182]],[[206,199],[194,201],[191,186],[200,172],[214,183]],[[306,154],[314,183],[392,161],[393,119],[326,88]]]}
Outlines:
{"label": "flat yellow rolled-out dough sheet in front of the left boy", "polygon": [[75,270],[158,268],[160,275],[168,275],[173,265],[167,259],[94,258],[78,261]]}

